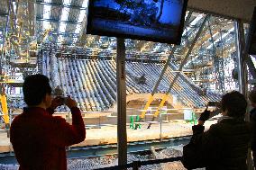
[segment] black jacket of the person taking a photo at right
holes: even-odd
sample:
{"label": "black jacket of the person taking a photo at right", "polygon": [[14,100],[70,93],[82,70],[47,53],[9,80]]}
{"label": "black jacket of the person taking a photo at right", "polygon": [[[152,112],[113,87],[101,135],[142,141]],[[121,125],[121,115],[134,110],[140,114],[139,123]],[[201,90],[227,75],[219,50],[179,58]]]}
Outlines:
{"label": "black jacket of the person taking a photo at right", "polygon": [[251,126],[242,119],[225,118],[205,127],[193,126],[190,143],[183,148],[183,165],[187,169],[246,170]]}

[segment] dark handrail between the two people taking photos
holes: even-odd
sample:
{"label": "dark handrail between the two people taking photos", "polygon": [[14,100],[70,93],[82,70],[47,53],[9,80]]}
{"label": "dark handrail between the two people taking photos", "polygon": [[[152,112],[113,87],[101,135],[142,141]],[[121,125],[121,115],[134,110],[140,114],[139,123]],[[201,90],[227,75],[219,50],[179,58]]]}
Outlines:
{"label": "dark handrail between the two people taking photos", "polygon": [[133,170],[137,170],[141,166],[149,166],[149,165],[160,164],[160,163],[180,161],[181,159],[182,157],[169,157],[169,158],[147,160],[147,161],[133,161],[133,163],[129,163],[123,166],[103,167],[103,168],[98,168],[96,170],[120,170],[120,169],[125,169],[130,167],[133,167]]}

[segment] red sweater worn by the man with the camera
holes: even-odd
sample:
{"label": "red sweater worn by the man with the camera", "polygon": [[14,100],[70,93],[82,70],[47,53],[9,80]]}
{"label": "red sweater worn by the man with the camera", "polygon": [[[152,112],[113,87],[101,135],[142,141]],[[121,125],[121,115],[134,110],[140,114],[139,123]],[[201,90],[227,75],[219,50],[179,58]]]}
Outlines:
{"label": "red sweater worn by the man with the camera", "polygon": [[65,147],[86,138],[85,124],[77,107],[71,109],[72,125],[53,111],[24,108],[11,126],[11,142],[20,170],[66,170]]}

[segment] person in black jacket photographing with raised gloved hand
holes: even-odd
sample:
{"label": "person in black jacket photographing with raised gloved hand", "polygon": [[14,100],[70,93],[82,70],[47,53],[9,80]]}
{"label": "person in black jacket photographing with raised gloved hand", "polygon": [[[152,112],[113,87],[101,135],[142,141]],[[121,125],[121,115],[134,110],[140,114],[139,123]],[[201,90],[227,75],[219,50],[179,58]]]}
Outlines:
{"label": "person in black jacket photographing with raised gloved hand", "polygon": [[247,102],[242,94],[233,91],[221,100],[223,117],[204,132],[210,112],[200,115],[192,127],[193,136],[183,148],[182,163],[187,169],[206,167],[206,170],[246,170],[251,142],[251,125],[244,121]]}

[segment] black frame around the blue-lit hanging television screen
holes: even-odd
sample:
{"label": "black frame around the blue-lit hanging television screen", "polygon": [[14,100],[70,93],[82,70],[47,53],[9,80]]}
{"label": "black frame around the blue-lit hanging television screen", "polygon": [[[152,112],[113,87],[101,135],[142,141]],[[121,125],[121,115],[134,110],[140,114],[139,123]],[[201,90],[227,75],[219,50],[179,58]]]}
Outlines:
{"label": "black frame around the blue-lit hanging television screen", "polygon": [[153,38],[153,37],[150,38],[150,37],[146,37],[146,36],[137,36],[137,35],[131,35],[131,34],[124,34],[124,33],[113,33],[110,31],[94,30],[92,28],[92,21],[93,21],[92,13],[93,13],[93,9],[95,7],[93,1],[94,0],[88,1],[89,3],[88,3],[88,14],[87,14],[87,34],[116,37],[116,38],[123,38],[123,39],[147,40],[147,41],[154,41],[154,42],[161,42],[161,43],[168,43],[168,44],[177,44],[177,45],[179,45],[181,42],[188,0],[183,0],[184,4],[183,4],[183,8],[182,8],[181,17],[180,17],[180,24],[179,24],[179,28],[178,28],[177,40],[163,40],[163,39],[158,39],[158,38]]}

